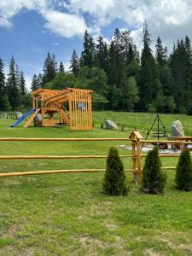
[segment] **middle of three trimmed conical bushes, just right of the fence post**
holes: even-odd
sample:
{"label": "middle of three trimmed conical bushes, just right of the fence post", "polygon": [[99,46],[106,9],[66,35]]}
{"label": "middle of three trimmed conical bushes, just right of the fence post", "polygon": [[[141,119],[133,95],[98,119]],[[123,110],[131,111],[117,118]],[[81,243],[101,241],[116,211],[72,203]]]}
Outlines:
{"label": "middle of three trimmed conical bushes, just right of the fence post", "polygon": [[162,194],[166,185],[166,172],[162,171],[158,147],[148,152],[143,166],[143,191]]}

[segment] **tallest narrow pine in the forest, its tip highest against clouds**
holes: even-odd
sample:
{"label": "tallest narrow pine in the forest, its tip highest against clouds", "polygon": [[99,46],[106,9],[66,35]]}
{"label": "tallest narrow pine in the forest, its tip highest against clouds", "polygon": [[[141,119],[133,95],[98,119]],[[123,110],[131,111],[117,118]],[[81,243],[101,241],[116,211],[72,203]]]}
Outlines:
{"label": "tallest narrow pine in the forest, its tip highest against clouds", "polygon": [[148,110],[148,105],[151,104],[156,95],[156,88],[154,87],[154,81],[157,79],[156,67],[154,56],[152,55],[152,49],[150,48],[151,40],[148,32],[147,21],[143,26],[143,50],[141,57],[141,70],[138,79],[138,85],[140,89],[140,108],[142,110]]}

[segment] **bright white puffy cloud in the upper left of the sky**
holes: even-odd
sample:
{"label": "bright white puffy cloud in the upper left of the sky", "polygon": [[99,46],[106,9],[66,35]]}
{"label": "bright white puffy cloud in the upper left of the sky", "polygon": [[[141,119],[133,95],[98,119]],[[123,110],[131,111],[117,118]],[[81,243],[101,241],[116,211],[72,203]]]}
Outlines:
{"label": "bright white puffy cloud in the upper left of the sky", "polygon": [[35,10],[44,17],[50,32],[62,37],[82,36],[87,28],[83,16],[55,10],[54,0],[6,0],[0,1],[0,26],[12,26],[11,19],[21,10]]}

